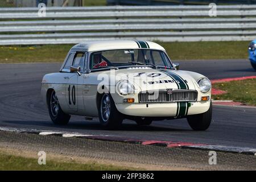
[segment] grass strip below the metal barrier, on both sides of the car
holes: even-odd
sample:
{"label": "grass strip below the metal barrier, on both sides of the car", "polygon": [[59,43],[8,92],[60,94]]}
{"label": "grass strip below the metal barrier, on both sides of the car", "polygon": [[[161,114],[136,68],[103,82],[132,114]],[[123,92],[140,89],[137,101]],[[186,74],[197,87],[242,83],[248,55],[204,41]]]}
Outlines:
{"label": "grass strip below the metal barrier, on both sides of the car", "polygon": [[[246,59],[248,42],[159,42],[172,60]],[[2,46],[0,63],[62,62],[73,44]]]}

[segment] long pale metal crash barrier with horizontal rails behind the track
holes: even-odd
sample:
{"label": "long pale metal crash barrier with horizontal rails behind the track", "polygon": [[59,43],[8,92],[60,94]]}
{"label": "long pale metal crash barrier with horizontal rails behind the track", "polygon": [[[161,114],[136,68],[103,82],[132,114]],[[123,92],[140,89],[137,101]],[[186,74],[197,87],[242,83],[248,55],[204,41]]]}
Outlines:
{"label": "long pale metal crash barrier with horizontal rails behind the track", "polygon": [[163,42],[256,39],[256,5],[0,8],[0,45],[67,44],[88,40]]}

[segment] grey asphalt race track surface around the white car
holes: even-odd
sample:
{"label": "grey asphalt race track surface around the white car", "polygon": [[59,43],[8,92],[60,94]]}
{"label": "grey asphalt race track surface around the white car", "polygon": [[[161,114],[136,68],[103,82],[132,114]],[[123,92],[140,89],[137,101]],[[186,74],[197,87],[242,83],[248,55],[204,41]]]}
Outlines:
{"label": "grey asphalt race track surface around the white car", "polygon": [[[179,61],[180,69],[203,73],[210,79],[255,76],[247,60]],[[69,125],[55,126],[40,96],[46,73],[59,71],[60,64],[0,64],[0,127],[21,127],[110,135],[133,139],[171,140],[256,148],[256,109],[214,106],[207,131],[192,131],[186,119],[156,121],[138,127],[125,121],[120,130],[104,130],[97,122],[72,116]]]}

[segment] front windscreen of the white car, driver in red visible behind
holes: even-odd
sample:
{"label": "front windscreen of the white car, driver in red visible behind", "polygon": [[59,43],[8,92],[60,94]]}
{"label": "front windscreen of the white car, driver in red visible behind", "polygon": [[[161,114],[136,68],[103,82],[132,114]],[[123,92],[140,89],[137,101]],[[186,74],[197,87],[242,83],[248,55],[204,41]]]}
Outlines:
{"label": "front windscreen of the white car, driver in red visible behind", "polygon": [[155,49],[116,49],[93,52],[90,56],[90,69],[133,65],[172,67],[166,53]]}

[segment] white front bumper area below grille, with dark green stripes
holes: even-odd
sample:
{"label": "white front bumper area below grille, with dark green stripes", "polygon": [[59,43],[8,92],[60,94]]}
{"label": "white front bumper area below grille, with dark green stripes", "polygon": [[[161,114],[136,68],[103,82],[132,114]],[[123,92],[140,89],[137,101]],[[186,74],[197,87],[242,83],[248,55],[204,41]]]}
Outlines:
{"label": "white front bumper area below grille, with dark green stripes", "polygon": [[[179,104],[178,102],[170,103],[133,103],[133,104],[115,104],[117,110],[126,115],[139,117],[176,117],[201,114],[208,111],[210,101],[186,102]],[[184,109],[186,111],[184,111]]]}

